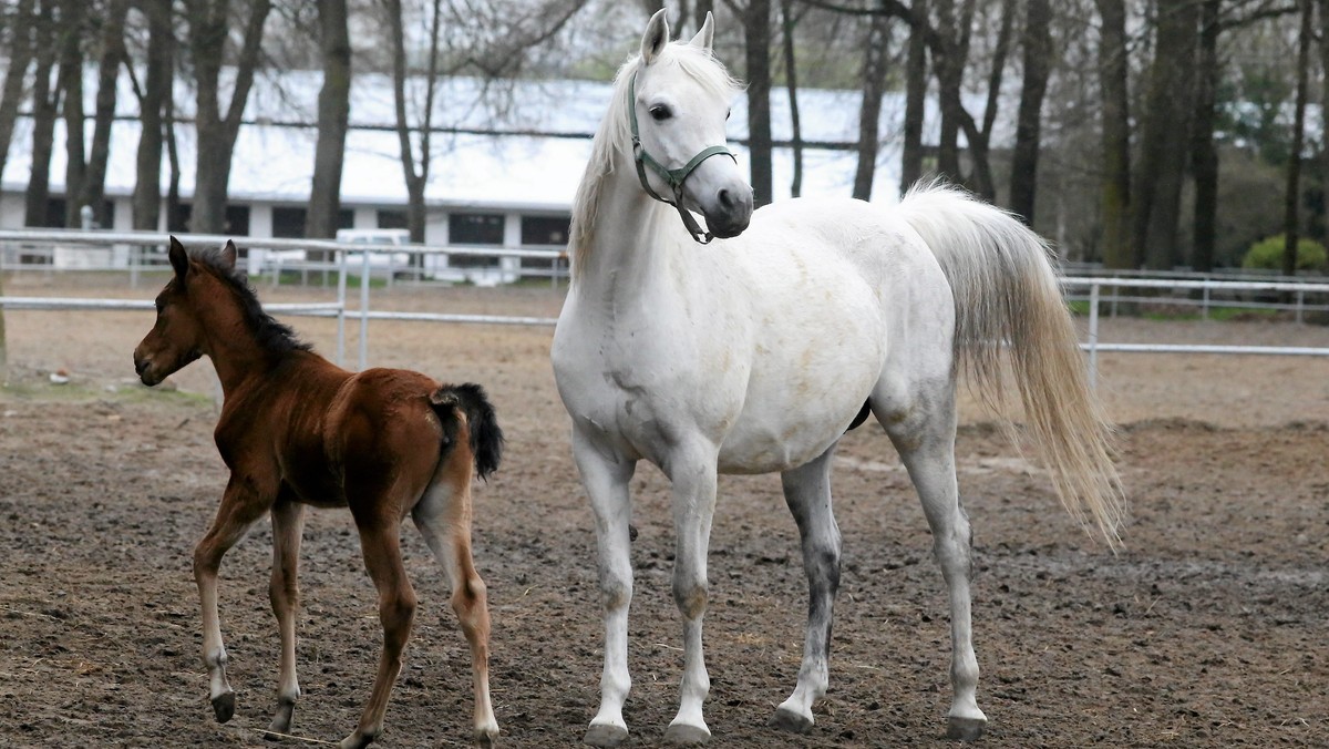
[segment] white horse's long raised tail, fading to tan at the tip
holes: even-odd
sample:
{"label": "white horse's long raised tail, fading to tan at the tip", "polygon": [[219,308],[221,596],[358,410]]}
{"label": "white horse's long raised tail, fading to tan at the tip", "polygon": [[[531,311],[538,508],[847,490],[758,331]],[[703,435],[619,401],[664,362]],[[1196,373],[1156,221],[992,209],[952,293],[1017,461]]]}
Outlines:
{"label": "white horse's long raised tail, fading to tan at the tip", "polygon": [[1112,428],[1088,387],[1047,243],[1009,213],[938,182],[914,185],[898,210],[950,282],[956,361],[970,387],[987,406],[1001,402],[1007,347],[1029,432],[1062,504],[1115,549],[1126,499]]}

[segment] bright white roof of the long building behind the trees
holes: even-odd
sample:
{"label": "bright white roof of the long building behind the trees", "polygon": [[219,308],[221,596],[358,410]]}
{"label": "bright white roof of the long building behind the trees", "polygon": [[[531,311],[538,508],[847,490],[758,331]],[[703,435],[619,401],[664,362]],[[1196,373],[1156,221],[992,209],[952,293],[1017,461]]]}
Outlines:
{"label": "bright white roof of the long building behind the trees", "polygon": [[[93,108],[96,71],[89,71],[85,86],[86,110]],[[412,101],[423,101],[413,81]],[[235,144],[230,197],[235,201],[304,202],[314,173],[318,93],[322,73],[292,71],[266,73],[254,85]],[[500,86],[506,86],[500,90]],[[120,117],[112,130],[112,156],[106,193],[130,194],[136,182],[138,148],[138,102],[128,76],[121,76],[117,101]],[[225,86],[223,86],[225,88]],[[435,122],[456,133],[436,133],[425,200],[432,205],[508,208],[522,210],[567,210],[586,160],[589,137],[533,134],[477,134],[476,132],[540,132],[591,134],[607,108],[610,82],[597,81],[514,81],[492,84],[469,77],[443,81],[435,106]],[[800,89],[799,110],[805,141],[851,142],[857,138],[860,94],[851,90]],[[181,85],[177,117],[193,116],[194,94]],[[225,100],[223,100],[225,101]],[[877,158],[874,200],[893,202],[898,185],[902,97],[888,94],[881,112],[882,148]],[[383,75],[358,75],[351,92],[351,130],[347,136],[342,176],[342,200],[348,205],[404,205],[405,184],[392,130],[392,80]],[[936,121],[934,116],[929,121]],[[775,140],[791,137],[788,97],[784,89],[771,92],[771,124]],[[86,121],[90,140],[93,121]],[[747,136],[746,98],[734,102],[731,138]],[[178,122],[181,193],[187,198],[194,188],[195,134],[189,122]],[[51,189],[64,190],[65,128],[56,122],[54,153],[51,162]],[[747,149],[732,146],[739,164],[747,164]],[[23,190],[31,173],[32,120],[21,117],[3,174],[5,190]],[[773,154],[775,196],[789,194],[793,157],[788,148]],[[853,184],[857,156],[848,150],[805,150],[803,194],[848,194]],[[162,185],[167,178],[162,160]]]}

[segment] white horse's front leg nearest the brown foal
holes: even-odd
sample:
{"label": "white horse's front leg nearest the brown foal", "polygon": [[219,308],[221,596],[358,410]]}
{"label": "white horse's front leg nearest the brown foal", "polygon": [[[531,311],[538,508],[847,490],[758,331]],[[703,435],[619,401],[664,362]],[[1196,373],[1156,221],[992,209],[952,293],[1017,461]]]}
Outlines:
{"label": "white horse's front leg nearest the brown foal", "polygon": [[623,702],[633,686],[633,678],[627,673],[627,607],[633,600],[629,543],[633,508],[627,483],[637,463],[615,458],[579,430],[573,431],[573,455],[595,515],[599,591],[605,615],[605,669],[599,677],[599,710],[590,721],[585,742],[593,746],[618,746],[627,740]]}

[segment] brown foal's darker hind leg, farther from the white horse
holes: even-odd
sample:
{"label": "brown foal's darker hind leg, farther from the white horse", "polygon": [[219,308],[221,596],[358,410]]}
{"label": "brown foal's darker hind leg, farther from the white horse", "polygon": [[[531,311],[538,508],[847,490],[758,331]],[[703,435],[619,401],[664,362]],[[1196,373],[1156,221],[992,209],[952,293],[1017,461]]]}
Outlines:
{"label": "brown foal's darker hind leg, farther from the white horse", "polygon": [[384,500],[379,504],[367,512],[356,514],[355,522],[360,529],[364,567],[379,591],[383,655],[379,657],[379,672],[373,677],[369,701],[360,714],[360,725],[355,733],[342,740],[342,749],[368,746],[383,732],[383,716],[388,709],[392,686],[401,673],[401,656],[407,640],[411,639],[411,624],[415,619],[416,596],[407,577],[405,565],[401,564],[396,503]]}

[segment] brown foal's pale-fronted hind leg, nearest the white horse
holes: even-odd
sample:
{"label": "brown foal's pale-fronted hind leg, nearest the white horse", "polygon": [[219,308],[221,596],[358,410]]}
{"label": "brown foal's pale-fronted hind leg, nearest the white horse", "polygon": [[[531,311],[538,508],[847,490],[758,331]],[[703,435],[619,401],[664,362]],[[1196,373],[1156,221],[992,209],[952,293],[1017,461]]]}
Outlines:
{"label": "brown foal's pale-fronted hind leg, nearest the white horse", "polygon": [[485,581],[470,557],[470,454],[457,452],[468,462],[452,471],[440,470],[411,516],[448,575],[452,611],[470,644],[473,736],[488,746],[498,737],[498,721],[489,701],[489,604]]}

